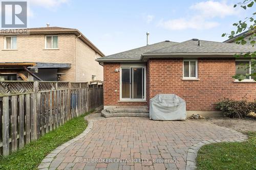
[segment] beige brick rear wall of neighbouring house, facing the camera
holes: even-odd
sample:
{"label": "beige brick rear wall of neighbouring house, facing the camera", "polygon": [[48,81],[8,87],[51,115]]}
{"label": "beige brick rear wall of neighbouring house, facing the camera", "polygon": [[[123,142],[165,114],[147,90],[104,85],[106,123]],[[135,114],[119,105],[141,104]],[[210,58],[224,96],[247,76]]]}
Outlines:
{"label": "beige brick rear wall of neighbouring house, facing the camera", "polygon": [[75,35],[58,35],[58,50],[45,50],[45,35],[17,36],[17,50],[4,50],[0,36],[0,62],[70,63],[60,80],[75,81]]}

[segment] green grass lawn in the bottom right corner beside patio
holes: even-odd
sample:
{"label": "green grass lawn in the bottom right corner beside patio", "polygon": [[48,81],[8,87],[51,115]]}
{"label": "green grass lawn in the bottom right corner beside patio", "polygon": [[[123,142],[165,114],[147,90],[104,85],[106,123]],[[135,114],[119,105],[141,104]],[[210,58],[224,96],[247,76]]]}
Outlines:
{"label": "green grass lawn in the bottom right corner beside patio", "polygon": [[256,132],[244,142],[204,145],[198,152],[198,169],[256,169]]}

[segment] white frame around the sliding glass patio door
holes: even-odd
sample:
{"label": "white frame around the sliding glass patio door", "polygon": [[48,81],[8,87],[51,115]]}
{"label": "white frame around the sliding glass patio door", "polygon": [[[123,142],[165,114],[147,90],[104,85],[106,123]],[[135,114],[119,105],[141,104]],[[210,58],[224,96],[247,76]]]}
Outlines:
{"label": "white frame around the sliding glass patio door", "polygon": [[[130,69],[130,84],[131,84],[131,67],[132,68],[144,68],[144,98],[143,99],[132,99],[131,98],[131,88],[130,88],[130,99],[127,99],[127,98],[122,98],[122,68],[129,68]],[[121,66],[120,67],[120,77],[119,77],[119,80],[120,80],[120,91],[119,91],[119,96],[120,96],[120,102],[123,102],[123,101],[127,101],[127,102],[144,102],[146,101],[146,66],[139,66],[139,65],[130,65],[130,66]]]}

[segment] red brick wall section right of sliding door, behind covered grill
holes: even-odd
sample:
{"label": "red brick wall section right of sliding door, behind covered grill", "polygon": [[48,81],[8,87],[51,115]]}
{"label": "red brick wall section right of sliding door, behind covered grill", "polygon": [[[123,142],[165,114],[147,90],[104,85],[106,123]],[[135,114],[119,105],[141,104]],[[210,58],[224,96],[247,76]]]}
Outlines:
{"label": "red brick wall section right of sliding door, behind covered grill", "polygon": [[175,93],[186,101],[187,110],[215,110],[219,99],[256,98],[256,83],[234,83],[234,59],[198,59],[199,81],[183,81],[182,59],[150,60],[147,63],[148,98]]}

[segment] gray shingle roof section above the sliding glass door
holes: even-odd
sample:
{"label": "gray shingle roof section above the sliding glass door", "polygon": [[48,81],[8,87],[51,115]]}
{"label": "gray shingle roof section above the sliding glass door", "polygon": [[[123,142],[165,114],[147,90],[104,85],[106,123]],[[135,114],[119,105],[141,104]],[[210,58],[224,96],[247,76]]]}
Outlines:
{"label": "gray shingle roof section above the sliding glass door", "polygon": [[156,50],[162,49],[164,47],[169,47],[169,46],[176,45],[176,44],[178,44],[178,42],[163,41],[163,42],[158,42],[155,44],[135,48],[133,50],[113,54],[110,56],[101,57],[100,59],[125,59],[125,58],[139,59],[141,57],[141,54],[143,54],[143,53],[156,51]]}

